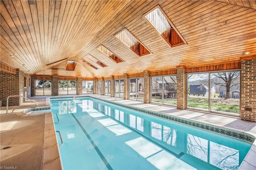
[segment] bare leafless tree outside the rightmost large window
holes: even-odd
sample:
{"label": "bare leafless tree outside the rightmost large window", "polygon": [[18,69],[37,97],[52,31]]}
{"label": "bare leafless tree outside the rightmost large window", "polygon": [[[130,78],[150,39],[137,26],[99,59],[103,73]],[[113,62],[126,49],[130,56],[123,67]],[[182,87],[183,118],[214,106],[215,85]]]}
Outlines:
{"label": "bare leafless tree outside the rightmost large window", "polygon": [[235,71],[235,72],[224,72],[224,73],[213,73],[215,77],[218,79],[222,79],[223,81],[214,81],[215,85],[220,85],[226,87],[226,98],[225,99],[230,99],[230,88],[233,87],[234,85],[239,85],[240,84],[240,72]]}

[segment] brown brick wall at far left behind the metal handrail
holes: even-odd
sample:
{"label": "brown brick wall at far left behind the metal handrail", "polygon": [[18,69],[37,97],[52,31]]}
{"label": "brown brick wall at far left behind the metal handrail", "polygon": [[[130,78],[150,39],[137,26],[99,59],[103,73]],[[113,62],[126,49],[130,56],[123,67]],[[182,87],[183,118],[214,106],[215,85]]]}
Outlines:
{"label": "brown brick wall at far left behind the metal handrail", "polygon": [[[24,88],[24,77],[26,77],[26,85]],[[30,76],[17,70],[16,74],[0,71],[0,99],[2,106],[6,106],[7,97],[10,95],[21,95],[30,97],[29,87]],[[22,97],[9,98],[8,106],[18,106],[25,101]]]}

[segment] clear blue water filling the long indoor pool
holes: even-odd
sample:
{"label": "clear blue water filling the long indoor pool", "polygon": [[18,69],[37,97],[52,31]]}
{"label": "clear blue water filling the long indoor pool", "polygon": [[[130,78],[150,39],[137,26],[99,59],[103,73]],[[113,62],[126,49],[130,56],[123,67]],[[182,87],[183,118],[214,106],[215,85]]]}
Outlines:
{"label": "clear blue water filling the long indoor pool", "polygon": [[251,147],[92,98],[50,102],[64,170],[232,170]]}

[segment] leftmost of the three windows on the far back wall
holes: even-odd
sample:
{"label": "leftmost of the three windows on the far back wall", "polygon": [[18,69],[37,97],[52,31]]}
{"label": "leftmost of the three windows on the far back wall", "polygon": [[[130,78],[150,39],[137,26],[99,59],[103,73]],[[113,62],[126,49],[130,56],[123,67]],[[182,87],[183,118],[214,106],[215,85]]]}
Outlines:
{"label": "leftmost of the three windows on the far back wall", "polygon": [[52,95],[52,80],[36,80],[35,95]]}

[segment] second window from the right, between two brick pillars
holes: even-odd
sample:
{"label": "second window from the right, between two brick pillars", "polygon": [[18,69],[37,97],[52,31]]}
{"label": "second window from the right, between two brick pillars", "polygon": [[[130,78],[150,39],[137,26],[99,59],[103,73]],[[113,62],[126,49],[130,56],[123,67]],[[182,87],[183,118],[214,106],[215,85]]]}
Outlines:
{"label": "second window from the right, between two brick pillars", "polygon": [[151,77],[151,102],[177,104],[176,75]]}

